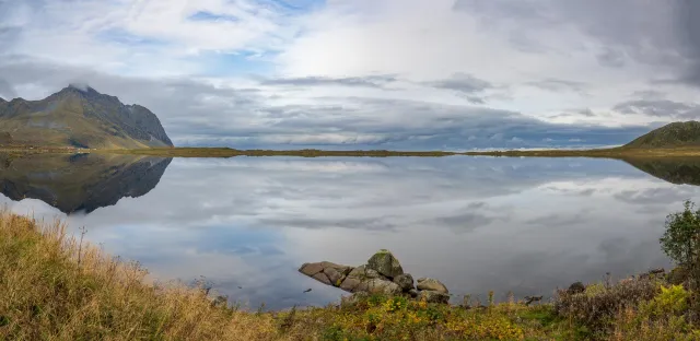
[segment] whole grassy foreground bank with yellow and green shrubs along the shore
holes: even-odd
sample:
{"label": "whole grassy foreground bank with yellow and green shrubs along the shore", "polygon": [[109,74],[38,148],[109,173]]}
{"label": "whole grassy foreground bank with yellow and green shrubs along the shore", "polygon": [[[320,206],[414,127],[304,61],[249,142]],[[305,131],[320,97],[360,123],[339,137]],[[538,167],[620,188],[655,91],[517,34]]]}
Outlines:
{"label": "whole grassy foreground bank with yellow and green shrubs along the shore", "polygon": [[145,275],[58,222],[0,212],[0,340],[700,340],[685,319],[688,292],[665,274],[530,306],[370,296],[277,313],[230,308]]}

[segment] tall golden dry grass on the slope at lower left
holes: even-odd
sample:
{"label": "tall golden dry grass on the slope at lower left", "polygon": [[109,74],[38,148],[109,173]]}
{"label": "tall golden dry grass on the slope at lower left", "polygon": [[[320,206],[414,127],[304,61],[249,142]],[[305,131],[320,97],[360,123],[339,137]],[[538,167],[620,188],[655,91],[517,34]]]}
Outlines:
{"label": "tall golden dry grass on the slope at lower left", "polygon": [[2,212],[0,339],[278,339],[269,315],[214,306],[200,290],[145,284],[145,274],[81,247],[60,223]]}

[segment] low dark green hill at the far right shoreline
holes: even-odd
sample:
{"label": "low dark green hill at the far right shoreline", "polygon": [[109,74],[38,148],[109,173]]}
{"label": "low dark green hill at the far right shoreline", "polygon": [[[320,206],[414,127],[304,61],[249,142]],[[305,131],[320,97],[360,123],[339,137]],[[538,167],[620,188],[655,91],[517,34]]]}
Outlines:
{"label": "low dark green hill at the far right shoreline", "polygon": [[623,146],[640,149],[700,146],[700,122],[673,122],[654,129]]}

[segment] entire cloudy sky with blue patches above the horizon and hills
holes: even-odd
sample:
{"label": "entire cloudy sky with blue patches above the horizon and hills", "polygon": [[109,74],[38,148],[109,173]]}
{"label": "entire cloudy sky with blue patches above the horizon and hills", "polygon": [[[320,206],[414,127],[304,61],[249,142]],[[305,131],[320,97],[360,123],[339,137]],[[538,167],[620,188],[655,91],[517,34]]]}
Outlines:
{"label": "entire cloudy sky with blue patches above the horizon and hills", "polygon": [[693,0],[0,0],[0,97],[89,84],[176,145],[622,144],[700,116]]}

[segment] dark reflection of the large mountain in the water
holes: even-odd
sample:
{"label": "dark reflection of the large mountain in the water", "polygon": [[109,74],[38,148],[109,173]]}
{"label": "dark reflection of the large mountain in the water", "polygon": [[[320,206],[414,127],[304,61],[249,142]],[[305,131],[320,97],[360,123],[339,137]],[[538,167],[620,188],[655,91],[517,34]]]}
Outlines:
{"label": "dark reflection of the large mountain in the water", "polygon": [[90,213],[151,191],[170,157],[0,153],[0,192],[42,200],[66,214]]}

